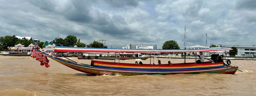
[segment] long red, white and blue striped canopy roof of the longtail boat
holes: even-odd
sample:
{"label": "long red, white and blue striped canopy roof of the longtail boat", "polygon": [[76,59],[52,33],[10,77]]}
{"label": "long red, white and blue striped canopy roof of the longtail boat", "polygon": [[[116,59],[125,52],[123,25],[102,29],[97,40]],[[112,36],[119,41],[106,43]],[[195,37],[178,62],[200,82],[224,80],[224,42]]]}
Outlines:
{"label": "long red, white and blue striped canopy roof of the longtail boat", "polygon": [[231,48],[216,49],[109,49],[109,48],[84,48],[84,47],[63,47],[55,46],[54,52],[116,52],[116,53],[164,53],[164,52],[210,52],[233,50]]}

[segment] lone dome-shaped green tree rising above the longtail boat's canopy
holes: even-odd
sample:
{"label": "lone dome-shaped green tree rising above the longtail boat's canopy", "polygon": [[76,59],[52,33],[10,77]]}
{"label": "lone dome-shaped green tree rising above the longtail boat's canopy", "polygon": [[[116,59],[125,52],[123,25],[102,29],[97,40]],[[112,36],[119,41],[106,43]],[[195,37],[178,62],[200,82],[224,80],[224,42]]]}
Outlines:
{"label": "lone dome-shaped green tree rising above the longtail boat's canopy", "polygon": [[170,40],[164,42],[162,49],[180,49],[180,46],[175,40]]}

